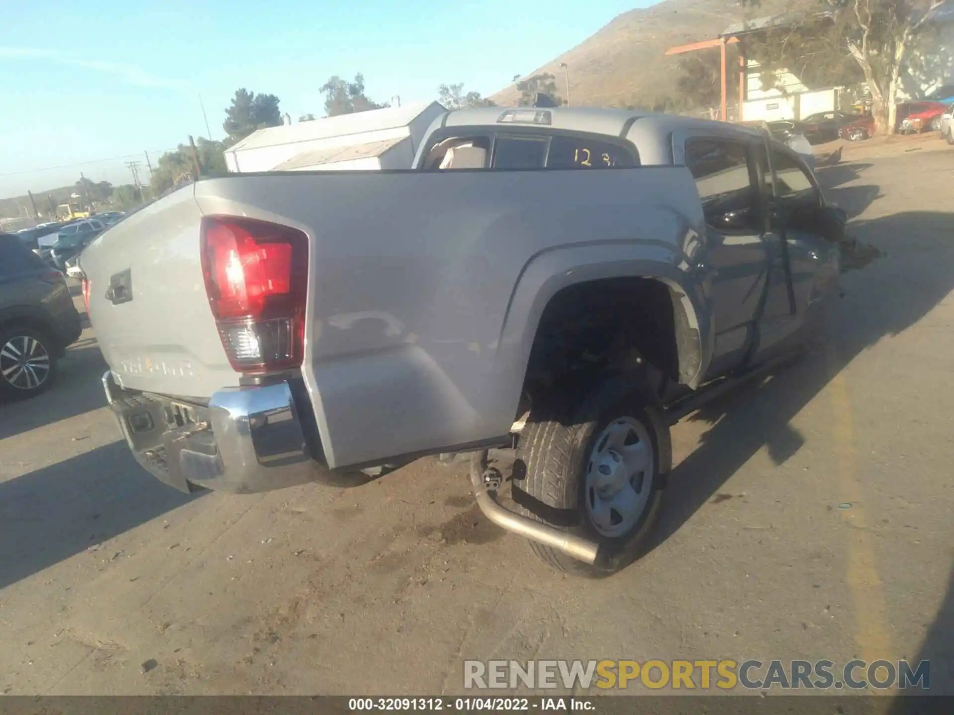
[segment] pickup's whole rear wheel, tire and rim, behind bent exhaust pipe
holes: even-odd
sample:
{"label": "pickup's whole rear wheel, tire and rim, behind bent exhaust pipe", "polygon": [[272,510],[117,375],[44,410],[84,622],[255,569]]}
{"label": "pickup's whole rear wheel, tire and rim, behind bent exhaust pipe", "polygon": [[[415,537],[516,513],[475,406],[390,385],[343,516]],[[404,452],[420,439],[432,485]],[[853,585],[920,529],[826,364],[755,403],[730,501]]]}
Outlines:
{"label": "pickup's whole rear wheel, tire and rim, behind bent exhaust pipe", "polygon": [[671,452],[660,410],[636,393],[602,389],[578,409],[565,401],[544,415],[531,411],[520,446],[527,471],[514,482],[514,501],[537,521],[599,543],[592,565],[531,541],[533,553],[589,578],[625,568],[658,519]]}

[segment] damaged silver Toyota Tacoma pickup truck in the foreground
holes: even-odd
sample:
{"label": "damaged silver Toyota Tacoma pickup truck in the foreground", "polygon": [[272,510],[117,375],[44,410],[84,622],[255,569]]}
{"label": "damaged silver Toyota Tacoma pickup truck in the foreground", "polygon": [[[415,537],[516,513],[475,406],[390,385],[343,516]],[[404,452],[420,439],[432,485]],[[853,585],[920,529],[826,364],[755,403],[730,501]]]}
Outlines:
{"label": "damaged silver Toyota Tacoma pickup truck in the foreground", "polygon": [[469,453],[490,520],[600,576],[653,527],[669,425],[819,327],[843,227],[764,133],[495,107],[439,117],[407,171],[198,181],[81,264],[107,398],[159,480]]}

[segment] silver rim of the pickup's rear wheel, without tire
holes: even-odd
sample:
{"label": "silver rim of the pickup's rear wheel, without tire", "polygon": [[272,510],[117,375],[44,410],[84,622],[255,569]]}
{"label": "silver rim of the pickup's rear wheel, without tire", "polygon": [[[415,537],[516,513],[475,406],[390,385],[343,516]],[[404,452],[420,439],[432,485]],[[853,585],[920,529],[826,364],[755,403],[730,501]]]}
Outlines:
{"label": "silver rim of the pickup's rear wheel, without tire", "polygon": [[619,537],[639,521],[653,489],[653,440],[638,419],[614,419],[587,461],[587,515],[605,537]]}

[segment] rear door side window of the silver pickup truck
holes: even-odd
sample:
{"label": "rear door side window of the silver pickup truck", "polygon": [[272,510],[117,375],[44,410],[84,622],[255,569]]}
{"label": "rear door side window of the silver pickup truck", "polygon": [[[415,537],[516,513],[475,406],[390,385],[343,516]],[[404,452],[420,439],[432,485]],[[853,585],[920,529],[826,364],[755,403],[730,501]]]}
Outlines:
{"label": "rear door side window of the silver pickup truck", "polygon": [[761,233],[748,144],[691,137],[686,140],[686,166],[695,178],[707,224],[716,231]]}

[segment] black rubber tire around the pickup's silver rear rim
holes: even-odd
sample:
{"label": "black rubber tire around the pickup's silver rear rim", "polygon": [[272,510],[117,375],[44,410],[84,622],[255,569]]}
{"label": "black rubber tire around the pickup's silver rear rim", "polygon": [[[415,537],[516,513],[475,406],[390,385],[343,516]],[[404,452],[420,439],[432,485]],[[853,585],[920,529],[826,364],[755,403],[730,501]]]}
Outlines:
{"label": "black rubber tire around the pickup's silver rear rim", "polygon": [[[607,383],[583,400],[566,397],[536,414],[531,411],[520,439],[518,459],[526,465],[526,475],[514,480],[513,499],[521,513],[599,543],[599,555],[592,565],[534,541],[530,541],[530,549],[553,568],[587,578],[611,576],[642,555],[658,521],[672,468],[669,427],[661,409],[641,397],[643,391],[621,397],[626,391],[620,387]],[[574,402],[579,406],[574,408]],[[650,492],[637,521],[624,534],[608,537],[591,521],[585,501],[586,471],[596,439],[622,418],[638,421],[648,433],[653,445],[653,475],[641,480],[641,489]]]}

